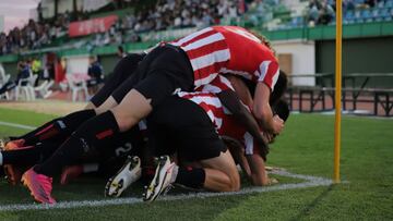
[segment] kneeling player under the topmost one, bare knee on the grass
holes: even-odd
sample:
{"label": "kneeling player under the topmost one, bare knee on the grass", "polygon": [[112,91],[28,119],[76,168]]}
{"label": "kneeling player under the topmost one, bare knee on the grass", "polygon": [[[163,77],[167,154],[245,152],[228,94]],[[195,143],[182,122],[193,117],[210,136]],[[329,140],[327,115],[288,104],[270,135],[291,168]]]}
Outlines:
{"label": "kneeling player under the topmost one, bare knee on the grass", "polygon": [[[239,176],[236,167],[234,168],[231,155],[222,139],[214,135],[225,135],[241,140],[241,149],[247,158],[241,164],[248,168],[246,172],[252,183],[254,185],[271,183],[264,168],[265,154],[260,152],[253,137],[225,111],[214,94],[180,94],[180,97],[186,100],[170,98],[147,118],[150,134],[153,135],[150,140],[153,140],[153,146],[158,149],[158,155],[159,151],[165,155],[174,155],[176,151],[177,159],[198,162],[201,167],[181,167],[168,156],[162,157],[156,174],[146,188],[144,200],[154,200],[171,184],[214,192],[238,191]],[[199,107],[192,106],[190,101]],[[285,111],[285,107],[279,108],[284,108]],[[209,126],[211,124],[207,123],[206,116],[210,118],[215,131]]]}

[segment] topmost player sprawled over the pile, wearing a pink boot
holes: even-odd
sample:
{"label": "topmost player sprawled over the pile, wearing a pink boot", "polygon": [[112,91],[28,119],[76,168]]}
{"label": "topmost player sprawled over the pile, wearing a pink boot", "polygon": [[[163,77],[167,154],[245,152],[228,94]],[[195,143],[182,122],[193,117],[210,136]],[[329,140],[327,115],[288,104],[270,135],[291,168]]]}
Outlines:
{"label": "topmost player sprawled over the pile, wearing a pink boot", "polygon": [[[250,58],[245,59],[245,56]],[[258,83],[252,110],[270,133],[278,134],[284,124],[279,118],[273,118],[269,105],[278,77],[273,51],[243,28],[210,27],[153,49],[138,65],[138,74],[128,78],[95,109],[100,114],[83,123],[62,144],[61,149],[67,149],[62,159],[51,157],[27,171],[25,181],[40,187],[48,185],[50,176],[64,162],[82,155],[90,146],[135,125],[179,89],[190,91],[209,84],[218,72],[238,74]]]}

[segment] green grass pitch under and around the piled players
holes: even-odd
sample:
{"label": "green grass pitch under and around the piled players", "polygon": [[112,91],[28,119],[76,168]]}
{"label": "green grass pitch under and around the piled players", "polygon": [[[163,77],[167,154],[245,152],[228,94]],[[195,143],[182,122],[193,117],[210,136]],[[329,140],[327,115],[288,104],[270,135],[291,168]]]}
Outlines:
{"label": "green grass pitch under and around the piled players", "polygon": [[[0,109],[3,122],[34,126],[51,118]],[[291,115],[271,148],[269,164],[332,177],[333,124],[331,115]],[[342,184],[153,204],[0,211],[0,220],[393,220],[393,121],[344,116],[342,131]],[[24,132],[0,126],[0,137]],[[299,182],[276,177],[281,183]],[[104,180],[84,177],[69,186],[55,185],[53,195],[58,200],[100,200],[104,185]],[[136,185],[127,196],[139,193]],[[31,202],[26,189],[0,180],[0,208]]]}

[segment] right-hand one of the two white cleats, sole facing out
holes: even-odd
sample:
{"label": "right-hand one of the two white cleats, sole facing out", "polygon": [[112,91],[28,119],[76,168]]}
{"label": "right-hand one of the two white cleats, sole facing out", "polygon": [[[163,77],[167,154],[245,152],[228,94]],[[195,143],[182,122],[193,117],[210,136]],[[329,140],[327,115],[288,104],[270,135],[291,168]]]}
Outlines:
{"label": "right-hand one of the two white cleats, sole facing out", "polygon": [[171,187],[175,162],[170,162],[169,156],[162,156],[158,159],[158,165],[153,181],[145,187],[143,194],[144,201],[154,201],[163,192]]}

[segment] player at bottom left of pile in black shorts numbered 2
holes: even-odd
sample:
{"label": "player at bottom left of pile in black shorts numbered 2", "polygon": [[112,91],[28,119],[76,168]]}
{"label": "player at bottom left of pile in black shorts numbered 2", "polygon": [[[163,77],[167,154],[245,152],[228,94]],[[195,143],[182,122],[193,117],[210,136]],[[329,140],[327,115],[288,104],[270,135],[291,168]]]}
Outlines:
{"label": "player at bottom left of pile in black shorts numbered 2", "polygon": [[[106,148],[93,147],[84,156],[64,167],[61,183],[64,184],[72,179],[70,176],[78,175],[75,172],[100,172],[105,176],[112,175],[130,155],[140,156],[145,160],[144,143],[140,125],[108,139],[102,144]],[[4,165],[9,183],[16,185],[24,171],[48,159],[58,148],[59,145],[56,143],[44,142],[17,149],[0,150],[0,167]]]}

